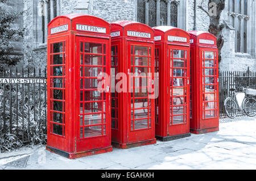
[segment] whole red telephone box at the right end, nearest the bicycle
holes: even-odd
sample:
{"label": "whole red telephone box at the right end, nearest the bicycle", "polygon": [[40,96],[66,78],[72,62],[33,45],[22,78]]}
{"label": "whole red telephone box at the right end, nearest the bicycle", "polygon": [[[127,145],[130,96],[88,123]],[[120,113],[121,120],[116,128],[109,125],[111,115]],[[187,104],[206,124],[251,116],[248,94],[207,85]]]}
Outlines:
{"label": "whole red telephone box at the right end, nearest the bicycle", "polygon": [[218,49],[208,32],[188,31],[191,43],[191,133],[218,131]]}

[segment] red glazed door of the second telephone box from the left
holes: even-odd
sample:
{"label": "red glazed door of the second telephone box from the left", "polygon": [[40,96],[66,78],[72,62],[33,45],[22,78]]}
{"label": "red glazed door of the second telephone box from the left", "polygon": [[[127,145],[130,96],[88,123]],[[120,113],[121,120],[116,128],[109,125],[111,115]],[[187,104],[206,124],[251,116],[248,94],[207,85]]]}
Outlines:
{"label": "red glazed door of the second telephone box from the left", "polygon": [[150,99],[152,92],[152,80],[148,73],[154,73],[154,57],[150,43],[128,43],[128,141],[136,142],[155,138],[154,123],[154,99]]}

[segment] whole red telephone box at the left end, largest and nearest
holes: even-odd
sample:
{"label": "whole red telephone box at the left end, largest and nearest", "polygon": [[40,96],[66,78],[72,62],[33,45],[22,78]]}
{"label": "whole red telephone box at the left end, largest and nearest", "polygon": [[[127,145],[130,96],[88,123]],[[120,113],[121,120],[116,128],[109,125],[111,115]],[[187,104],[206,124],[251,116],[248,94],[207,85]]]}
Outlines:
{"label": "whole red telephone box at the left end, largest and nearest", "polygon": [[109,78],[100,76],[110,74],[110,24],[68,14],[48,30],[47,149],[68,158],[112,151]]}

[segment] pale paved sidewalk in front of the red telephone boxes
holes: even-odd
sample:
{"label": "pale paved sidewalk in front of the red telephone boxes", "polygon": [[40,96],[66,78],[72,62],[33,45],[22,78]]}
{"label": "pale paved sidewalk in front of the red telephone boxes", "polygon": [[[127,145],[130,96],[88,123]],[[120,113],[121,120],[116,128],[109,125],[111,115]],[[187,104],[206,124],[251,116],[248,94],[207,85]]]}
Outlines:
{"label": "pale paved sidewalk in front of the red telephone boxes", "polygon": [[0,169],[256,169],[256,118],[221,120],[220,131],[78,159],[25,147],[0,154]]}

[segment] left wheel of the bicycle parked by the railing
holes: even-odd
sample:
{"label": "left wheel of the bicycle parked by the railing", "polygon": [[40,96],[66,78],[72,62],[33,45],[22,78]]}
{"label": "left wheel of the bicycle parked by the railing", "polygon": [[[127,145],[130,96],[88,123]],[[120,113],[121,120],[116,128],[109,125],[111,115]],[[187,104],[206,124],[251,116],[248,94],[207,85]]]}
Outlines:
{"label": "left wheel of the bicycle parked by the railing", "polygon": [[226,98],[224,102],[224,108],[226,115],[228,115],[230,118],[233,119],[237,116],[239,106],[235,99]]}

